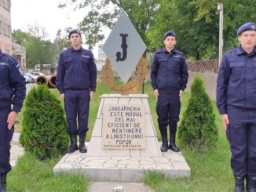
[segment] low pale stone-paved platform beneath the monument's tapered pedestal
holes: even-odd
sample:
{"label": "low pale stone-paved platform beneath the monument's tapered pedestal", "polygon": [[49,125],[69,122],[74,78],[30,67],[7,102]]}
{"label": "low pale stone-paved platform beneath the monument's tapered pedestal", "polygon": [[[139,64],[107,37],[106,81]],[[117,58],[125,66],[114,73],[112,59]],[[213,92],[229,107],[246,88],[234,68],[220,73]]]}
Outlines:
{"label": "low pale stone-paved platform beneath the monument's tapered pedestal", "polygon": [[97,182],[141,182],[147,171],[162,172],[170,177],[188,177],[191,173],[181,152],[171,150],[155,158],[91,157],[77,150],[65,154],[53,168],[54,173],[79,173]]}

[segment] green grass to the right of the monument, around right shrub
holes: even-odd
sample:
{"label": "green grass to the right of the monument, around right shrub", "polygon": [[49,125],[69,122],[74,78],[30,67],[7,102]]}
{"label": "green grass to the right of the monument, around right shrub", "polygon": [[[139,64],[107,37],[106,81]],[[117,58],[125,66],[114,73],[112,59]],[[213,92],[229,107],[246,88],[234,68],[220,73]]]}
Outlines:
{"label": "green grass to the right of the monument, around right shrub", "polygon": [[[150,86],[146,86],[146,92],[150,90]],[[155,123],[155,129],[160,138],[157,118],[155,114],[155,99],[152,94],[148,94],[148,99],[152,118]],[[181,117],[187,107],[189,94],[183,94],[181,103]],[[155,191],[171,192],[171,191],[232,191],[234,179],[230,168],[230,150],[229,143],[225,137],[225,131],[222,128],[221,117],[218,114],[217,107],[214,104],[214,112],[216,114],[216,124],[219,131],[219,139],[217,147],[207,152],[207,154],[197,154],[194,151],[181,148],[192,175],[183,179],[171,179],[163,176],[163,174],[148,172],[144,176],[144,183]]]}

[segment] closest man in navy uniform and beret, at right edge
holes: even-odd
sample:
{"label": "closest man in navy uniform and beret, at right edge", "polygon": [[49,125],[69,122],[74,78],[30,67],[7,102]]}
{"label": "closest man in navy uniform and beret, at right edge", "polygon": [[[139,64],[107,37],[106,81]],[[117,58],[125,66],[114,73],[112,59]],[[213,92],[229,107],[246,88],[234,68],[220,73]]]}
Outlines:
{"label": "closest man in navy uniform and beret, at right edge", "polygon": [[256,25],[237,31],[240,46],[225,53],[217,80],[217,106],[232,151],[235,191],[256,191]]}

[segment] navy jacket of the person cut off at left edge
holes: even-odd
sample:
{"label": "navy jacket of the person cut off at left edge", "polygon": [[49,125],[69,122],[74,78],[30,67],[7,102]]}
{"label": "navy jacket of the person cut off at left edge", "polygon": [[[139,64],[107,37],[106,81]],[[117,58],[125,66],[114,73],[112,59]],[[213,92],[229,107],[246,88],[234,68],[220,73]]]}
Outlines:
{"label": "navy jacket of the person cut off at left edge", "polygon": [[0,107],[20,112],[26,96],[25,78],[20,74],[16,60],[0,50]]}

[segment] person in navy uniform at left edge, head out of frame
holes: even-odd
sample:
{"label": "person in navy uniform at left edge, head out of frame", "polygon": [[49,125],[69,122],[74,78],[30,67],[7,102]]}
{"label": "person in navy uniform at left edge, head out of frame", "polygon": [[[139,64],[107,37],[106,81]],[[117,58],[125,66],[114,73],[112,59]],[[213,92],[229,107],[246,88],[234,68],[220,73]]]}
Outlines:
{"label": "person in navy uniform at left edge, head out of frame", "polygon": [[0,49],[0,191],[6,191],[13,124],[26,96],[26,82],[19,64]]}

